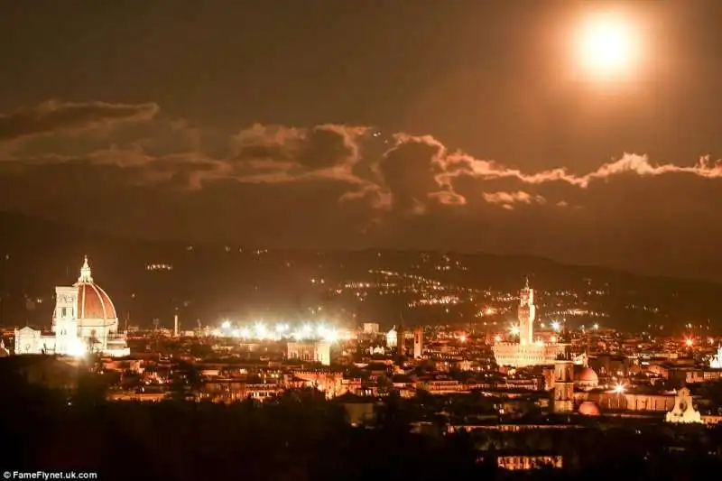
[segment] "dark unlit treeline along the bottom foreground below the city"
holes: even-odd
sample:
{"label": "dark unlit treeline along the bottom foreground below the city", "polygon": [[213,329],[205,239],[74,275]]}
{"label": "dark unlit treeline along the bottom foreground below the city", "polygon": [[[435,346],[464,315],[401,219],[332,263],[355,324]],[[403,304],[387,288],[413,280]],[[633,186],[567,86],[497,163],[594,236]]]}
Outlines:
{"label": "dark unlit treeline along the bottom foreground below the city", "polygon": [[[5,469],[89,470],[102,480],[671,480],[701,479],[720,467],[718,430],[421,435],[410,432],[403,403],[387,402],[373,429],[352,428],[343,406],[315,391],[263,405],[111,403],[92,384],[69,398],[5,380],[0,402]],[[563,454],[567,468],[504,474],[495,455],[510,449]]]}

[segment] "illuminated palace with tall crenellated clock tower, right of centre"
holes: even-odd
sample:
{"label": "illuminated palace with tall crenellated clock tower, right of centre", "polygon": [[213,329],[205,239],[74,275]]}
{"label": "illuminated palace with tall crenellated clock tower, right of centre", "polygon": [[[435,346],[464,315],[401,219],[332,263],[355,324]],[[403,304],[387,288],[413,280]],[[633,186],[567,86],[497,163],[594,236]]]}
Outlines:
{"label": "illuminated palace with tall crenellated clock tower, right of centre", "polygon": [[523,367],[527,365],[551,365],[564,351],[563,345],[556,342],[534,341],[534,290],[529,282],[519,296],[519,342],[497,342],[494,345],[494,357],[497,365]]}

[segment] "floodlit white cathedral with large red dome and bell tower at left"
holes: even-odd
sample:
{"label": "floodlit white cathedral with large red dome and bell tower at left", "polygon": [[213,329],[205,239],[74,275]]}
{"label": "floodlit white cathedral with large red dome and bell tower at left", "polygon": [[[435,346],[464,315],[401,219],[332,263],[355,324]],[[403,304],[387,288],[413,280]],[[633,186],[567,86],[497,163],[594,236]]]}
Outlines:
{"label": "floodlit white cathedral with large red dome and bell tower at left", "polygon": [[78,282],[55,288],[55,310],[51,333],[30,327],[15,329],[18,354],[82,356],[97,352],[106,356],[128,356],[125,336],[118,333],[113,301],[98,286],[85,258]]}

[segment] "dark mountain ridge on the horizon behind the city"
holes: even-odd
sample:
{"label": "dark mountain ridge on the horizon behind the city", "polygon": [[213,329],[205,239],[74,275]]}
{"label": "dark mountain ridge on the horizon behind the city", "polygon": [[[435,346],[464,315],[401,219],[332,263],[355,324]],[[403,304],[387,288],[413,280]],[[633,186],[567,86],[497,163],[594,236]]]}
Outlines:
{"label": "dark mountain ridge on the horizon behind the city", "polygon": [[[171,319],[175,310],[184,318],[208,319],[222,312],[273,310],[299,311],[328,298],[310,285],[324,278],[331,289],[346,282],[374,282],[370,271],[413,273],[445,285],[472,290],[514,292],[529,276],[541,291],[609,291],[606,308],[614,316],[649,322],[707,322],[718,319],[717,299],[722,286],[715,282],[648,277],[616,269],[557,263],[532,255],[464,254],[410,250],[363,251],[272,249],[224,243],[193,244],[112,236],[60,222],[0,212],[0,297],[14,301],[0,304],[0,315],[24,316],[24,296],[50,299],[53,286],[69,285],[79,275],[88,254],[93,276],[106,288],[118,312],[148,325],[153,318]],[[458,264],[457,264],[458,263]],[[172,271],[154,273],[149,264],[170,264]],[[451,268],[439,268],[450,264]],[[456,265],[463,267],[455,267]],[[403,296],[349,304],[356,319],[384,319],[398,312]],[[652,320],[644,306],[657,306],[664,316]],[[190,307],[189,307],[190,306]],[[385,307],[384,307],[385,306]],[[630,314],[629,306],[640,312]],[[51,306],[47,306],[51,308]],[[473,306],[467,306],[472,309]],[[45,308],[43,308],[45,309]],[[5,311],[5,312],[3,312]],[[473,313],[459,314],[468,319]],[[636,311],[635,311],[636,312]],[[44,316],[44,317],[43,317]],[[50,314],[39,314],[39,319]],[[448,321],[436,316],[436,321]],[[651,317],[652,316],[652,317]],[[669,319],[665,321],[664,319]],[[393,320],[386,322],[393,323]],[[420,321],[421,322],[421,321]],[[0,324],[7,323],[6,320]],[[382,321],[383,323],[383,321]]]}

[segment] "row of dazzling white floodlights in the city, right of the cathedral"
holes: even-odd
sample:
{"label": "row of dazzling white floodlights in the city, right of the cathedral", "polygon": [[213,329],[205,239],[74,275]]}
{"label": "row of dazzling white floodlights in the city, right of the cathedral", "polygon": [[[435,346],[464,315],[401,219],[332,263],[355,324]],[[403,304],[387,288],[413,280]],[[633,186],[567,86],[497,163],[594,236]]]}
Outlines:
{"label": "row of dazzling white floodlights in the city, right of the cathedral", "polygon": [[340,336],[335,328],[329,328],[323,324],[303,324],[292,329],[288,324],[276,324],[273,328],[269,328],[264,322],[255,322],[250,327],[236,328],[229,320],[224,320],[220,328],[214,329],[211,334],[217,337],[259,341],[292,338],[297,341],[319,339],[333,343],[341,338],[347,339],[347,336]]}

